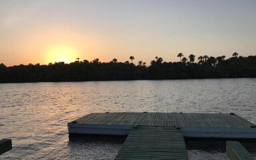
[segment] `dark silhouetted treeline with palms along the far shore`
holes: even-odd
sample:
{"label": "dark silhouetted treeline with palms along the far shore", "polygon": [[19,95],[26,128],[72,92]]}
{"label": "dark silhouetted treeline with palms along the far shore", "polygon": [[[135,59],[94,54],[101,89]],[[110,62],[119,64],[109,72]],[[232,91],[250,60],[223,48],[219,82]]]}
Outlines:
{"label": "dark silhouetted treeline with palms along the far shore", "polygon": [[[28,64],[6,67],[0,64],[0,82],[60,82],[60,81],[92,81],[92,80],[158,80],[187,78],[242,78],[256,77],[256,56],[238,57],[225,60],[225,56],[195,56],[190,54],[189,61],[178,54],[180,62],[163,62],[156,57],[149,66],[142,61],[138,65],[118,62],[100,62],[98,58],[65,64],[64,62],[48,65]],[[183,58],[182,58],[183,57]],[[130,56],[130,60],[134,60]]]}

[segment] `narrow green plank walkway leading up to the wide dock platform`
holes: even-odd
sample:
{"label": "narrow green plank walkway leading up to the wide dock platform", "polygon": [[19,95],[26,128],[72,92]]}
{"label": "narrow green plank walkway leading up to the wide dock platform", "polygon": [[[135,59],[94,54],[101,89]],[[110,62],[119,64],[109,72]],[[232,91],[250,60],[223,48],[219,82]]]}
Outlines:
{"label": "narrow green plank walkway leading up to the wide dock platform", "polygon": [[181,130],[172,127],[132,128],[115,160],[188,160]]}

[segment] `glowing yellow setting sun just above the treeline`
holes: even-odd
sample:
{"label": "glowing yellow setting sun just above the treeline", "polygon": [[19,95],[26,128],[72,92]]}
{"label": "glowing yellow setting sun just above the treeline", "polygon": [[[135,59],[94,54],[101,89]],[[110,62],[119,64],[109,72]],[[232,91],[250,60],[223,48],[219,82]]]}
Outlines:
{"label": "glowing yellow setting sun just above the treeline", "polygon": [[53,47],[48,51],[48,62],[74,62],[77,58],[77,51],[68,46]]}

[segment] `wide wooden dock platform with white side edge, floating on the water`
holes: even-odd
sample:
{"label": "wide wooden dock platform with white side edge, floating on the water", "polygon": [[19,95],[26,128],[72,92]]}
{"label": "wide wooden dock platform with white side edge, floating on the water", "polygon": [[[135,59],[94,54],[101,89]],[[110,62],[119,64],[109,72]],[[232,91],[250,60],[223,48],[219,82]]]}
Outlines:
{"label": "wide wooden dock platform with white side edge, floating on the water", "polygon": [[135,125],[180,127],[185,137],[256,138],[251,122],[236,114],[213,113],[92,113],[68,123],[68,132],[128,135]]}

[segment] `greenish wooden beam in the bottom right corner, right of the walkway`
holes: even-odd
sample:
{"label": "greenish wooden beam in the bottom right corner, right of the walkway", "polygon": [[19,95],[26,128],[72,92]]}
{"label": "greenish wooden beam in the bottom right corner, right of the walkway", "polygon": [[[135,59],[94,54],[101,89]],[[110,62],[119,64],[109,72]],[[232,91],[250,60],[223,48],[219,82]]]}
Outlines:
{"label": "greenish wooden beam in the bottom right corner, right of the walkway", "polygon": [[238,141],[227,141],[226,152],[230,160],[254,160],[251,154]]}

